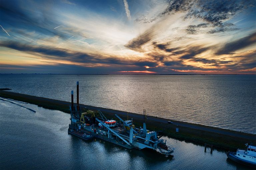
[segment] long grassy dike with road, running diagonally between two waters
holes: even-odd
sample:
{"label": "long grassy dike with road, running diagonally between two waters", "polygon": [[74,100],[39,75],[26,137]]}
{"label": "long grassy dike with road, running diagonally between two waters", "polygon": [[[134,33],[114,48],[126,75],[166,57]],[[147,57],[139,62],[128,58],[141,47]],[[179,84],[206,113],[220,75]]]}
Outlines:
{"label": "long grassy dike with road, running diagonally between two waters", "polygon": [[[70,102],[59,101],[54,99],[48,99],[43,97],[25,95],[20,93],[13,93],[9,91],[0,91],[0,97],[9,98],[13,100],[18,100],[22,102],[27,102],[31,104],[38,105],[46,109],[59,110],[65,113],[69,112]],[[88,108],[90,110],[100,109],[104,115],[108,118],[115,118],[117,113],[122,119],[127,119],[126,112],[116,111],[112,109],[99,108],[88,105],[80,105],[82,108]],[[133,122],[136,127],[142,127],[143,115],[129,113],[129,119],[133,118]],[[172,121],[173,125],[167,124],[167,121]],[[186,142],[193,142],[195,144],[204,145],[213,144],[215,148],[225,149],[225,150],[236,150],[237,148],[244,148],[245,143],[256,144],[256,135],[248,134],[243,132],[237,132],[232,130],[213,128],[203,125],[190,124],[185,122],[179,122],[174,120],[168,120],[163,118],[157,118],[152,116],[147,116],[147,129],[150,130],[163,130],[163,134],[178,139],[180,141],[185,140]],[[179,125],[179,132],[176,132],[176,125]],[[193,128],[188,128],[192,126]],[[212,132],[216,130],[218,132]],[[227,135],[228,134],[228,135]]]}

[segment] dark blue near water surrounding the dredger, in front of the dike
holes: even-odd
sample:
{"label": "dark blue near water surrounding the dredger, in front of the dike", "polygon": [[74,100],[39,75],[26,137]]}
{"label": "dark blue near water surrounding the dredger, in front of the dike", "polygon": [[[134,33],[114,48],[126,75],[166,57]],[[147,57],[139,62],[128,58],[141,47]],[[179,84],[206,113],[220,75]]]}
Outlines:
{"label": "dark blue near water surrounding the dredger, in front of the dike", "polygon": [[84,141],[67,133],[70,115],[21,104],[31,112],[0,101],[0,169],[196,170],[248,169],[227,159],[224,151],[167,138],[172,160],[152,151],[125,149],[108,142]]}

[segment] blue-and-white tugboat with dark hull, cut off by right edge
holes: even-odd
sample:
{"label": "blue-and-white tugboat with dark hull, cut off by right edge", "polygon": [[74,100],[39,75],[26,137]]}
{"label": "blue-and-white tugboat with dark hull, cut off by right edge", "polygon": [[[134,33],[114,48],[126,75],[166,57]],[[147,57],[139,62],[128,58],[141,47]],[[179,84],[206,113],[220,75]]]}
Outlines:
{"label": "blue-and-white tugboat with dark hull, cut off by right edge", "polygon": [[237,149],[236,152],[228,152],[229,159],[238,163],[256,168],[256,146],[246,145],[246,150]]}

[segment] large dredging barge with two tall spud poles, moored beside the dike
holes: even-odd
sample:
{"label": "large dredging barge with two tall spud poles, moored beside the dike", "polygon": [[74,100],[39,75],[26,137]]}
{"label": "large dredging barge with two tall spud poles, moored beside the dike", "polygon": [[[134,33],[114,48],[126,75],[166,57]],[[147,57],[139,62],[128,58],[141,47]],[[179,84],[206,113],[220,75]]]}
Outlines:
{"label": "large dredging barge with two tall spud poles, moored beside the dike", "polygon": [[[107,119],[103,113],[90,111],[82,113],[79,106],[79,82],[77,82],[77,105],[74,107],[73,91],[71,91],[70,121],[68,133],[88,140],[99,138],[125,148],[153,149],[166,157],[171,155],[174,148],[166,145],[166,140],[159,139],[156,131],[146,128],[146,112],[144,111],[143,128],[135,128],[132,120],[122,120],[115,115],[119,121]],[[95,115],[99,115],[96,117]]]}

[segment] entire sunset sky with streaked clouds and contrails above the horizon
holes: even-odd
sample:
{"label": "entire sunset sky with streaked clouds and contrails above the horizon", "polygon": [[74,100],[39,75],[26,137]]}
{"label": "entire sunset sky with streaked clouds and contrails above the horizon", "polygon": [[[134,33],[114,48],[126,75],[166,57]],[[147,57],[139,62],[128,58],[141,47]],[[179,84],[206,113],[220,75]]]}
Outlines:
{"label": "entire sunset sky with streaked clouds and contrails above the horizon", "polygon": [[255,0],[1,0],[0,25],[0,73],[256,73]]}

